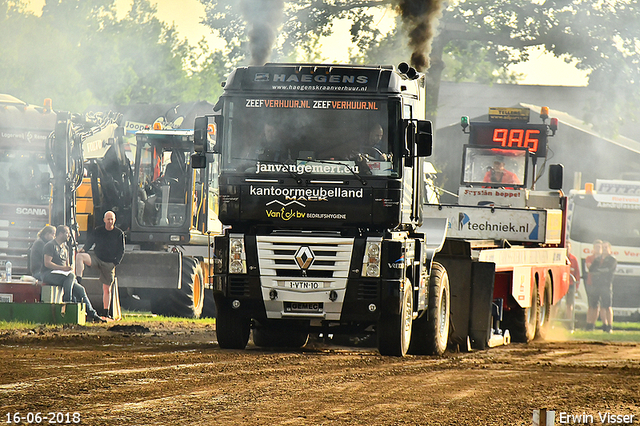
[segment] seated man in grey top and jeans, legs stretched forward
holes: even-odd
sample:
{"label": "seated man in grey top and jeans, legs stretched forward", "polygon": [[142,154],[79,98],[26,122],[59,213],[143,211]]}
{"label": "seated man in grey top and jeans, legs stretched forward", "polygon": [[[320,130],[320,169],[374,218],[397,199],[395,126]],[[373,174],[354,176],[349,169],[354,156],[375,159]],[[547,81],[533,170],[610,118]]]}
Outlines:
{"label": "seated man in grey top and jeans, legs stretched forward", "polygon": [[91,301],[87,297],[84,287],[76,282],[76,276],[72,272],[73,267],[69,263],[69,249],[67,248],[70,234],[67,226],[59,225],[56,228],[55,238],[45,244],[42,280],[49,285],[62,286],[63,302],[82,302],[87,305],[89,319],[96,322],[106,322],[106,318],[99,316],[91,306]]}

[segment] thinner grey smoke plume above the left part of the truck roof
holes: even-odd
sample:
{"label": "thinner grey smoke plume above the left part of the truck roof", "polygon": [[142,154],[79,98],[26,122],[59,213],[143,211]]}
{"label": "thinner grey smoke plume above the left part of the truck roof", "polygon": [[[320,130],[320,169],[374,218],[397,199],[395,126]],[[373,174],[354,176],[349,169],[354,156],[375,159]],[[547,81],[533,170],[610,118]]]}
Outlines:
{"label": "thinner grey smoke plume above the left part of the truck roof", "polygon": [[249,28],[251,65],[264,65],[282,23],[284,0],[240,0],[240,7]]}

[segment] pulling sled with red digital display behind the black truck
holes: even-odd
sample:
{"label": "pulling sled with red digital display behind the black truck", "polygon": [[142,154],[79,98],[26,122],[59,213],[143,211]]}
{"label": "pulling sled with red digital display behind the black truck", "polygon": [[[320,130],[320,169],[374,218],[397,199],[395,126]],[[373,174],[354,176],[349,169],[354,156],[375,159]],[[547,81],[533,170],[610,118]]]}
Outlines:
{"label": "pulling sled with red digital display behind the black truck", "polygon": [[[468,253],[478,262],[472,261],[472,270],[488,268],[492,321],[519,342],[546,337],[552,312],[570,285],[562,165],[549,165],[549,190],[536,189],[542,176],[538,161],[546,165],[548,138],[555,136],[558,121],[546,123],[547,107],[540,111],[542,123],[530,123],[530,114],[529,108],[490,108],[488,122],[462,117],[469,143],[463,146],[458,203],[425,206],[431,217],[448,218],[445,250],[455,244],[454,253],[467,265],[443,261],[452,280],[454,274],[466,280]],[[474,336],[476,346],[485,346],[481,335]]]}

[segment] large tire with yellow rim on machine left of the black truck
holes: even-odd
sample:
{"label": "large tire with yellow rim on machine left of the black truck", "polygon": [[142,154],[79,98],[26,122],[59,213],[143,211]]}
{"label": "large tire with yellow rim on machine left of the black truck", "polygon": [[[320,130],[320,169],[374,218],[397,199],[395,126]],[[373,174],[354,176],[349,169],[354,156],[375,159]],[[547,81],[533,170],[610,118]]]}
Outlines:
{"label": "large tire with yellow rim on machine left of the black truck", "polygon": [[179,289],[159,290],[151,300],[157,315],[200,318],[204,302],[202,265],[196,258],[182,257],[182,285]]}

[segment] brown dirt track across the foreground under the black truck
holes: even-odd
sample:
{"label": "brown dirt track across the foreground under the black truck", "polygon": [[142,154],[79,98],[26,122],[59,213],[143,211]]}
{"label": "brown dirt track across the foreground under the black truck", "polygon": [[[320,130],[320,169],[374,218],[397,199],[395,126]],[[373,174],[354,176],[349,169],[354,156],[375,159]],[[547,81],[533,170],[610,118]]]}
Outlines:
{"label": "brown dirt track across the foreground under the black truck", "polygon": [[640,424],[637,344],[399,359],[320,344],[221,350],[211,326],[184,323],[108,328],[1,332],[0,422],[77,412],[84,425],[530,425],[548,408]]}

